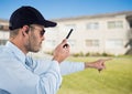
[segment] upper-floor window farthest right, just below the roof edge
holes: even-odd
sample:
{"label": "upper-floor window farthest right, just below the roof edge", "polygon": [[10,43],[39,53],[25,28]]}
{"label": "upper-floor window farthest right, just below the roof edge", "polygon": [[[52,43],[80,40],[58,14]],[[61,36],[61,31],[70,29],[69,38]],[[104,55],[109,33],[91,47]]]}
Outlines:
{"label": "upper-floor window farthest right, just below the roof edge", "polygon": [[116,29],[116,28],[123,28],[123,22],[122,21],[109,21],[108,22],[108,29]]}

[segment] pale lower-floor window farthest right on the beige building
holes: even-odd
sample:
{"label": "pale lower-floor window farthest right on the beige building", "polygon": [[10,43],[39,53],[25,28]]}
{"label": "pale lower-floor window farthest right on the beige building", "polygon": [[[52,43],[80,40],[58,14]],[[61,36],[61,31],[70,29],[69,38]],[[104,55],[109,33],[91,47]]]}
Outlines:
{"label": "pale lower-floor window farthest right on the beige building", "polygon": [[110,39],[106,41],[107,49],[120,49],[123,48],[123,40],[121,39]]}

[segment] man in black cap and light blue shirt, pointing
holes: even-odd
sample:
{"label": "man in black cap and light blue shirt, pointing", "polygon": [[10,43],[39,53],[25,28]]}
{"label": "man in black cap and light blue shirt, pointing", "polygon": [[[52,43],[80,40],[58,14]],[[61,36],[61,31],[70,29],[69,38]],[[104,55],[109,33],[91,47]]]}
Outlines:
{"label": "man in black cap and light blue shirt, pointing", "polygon": [[21,7],[12,13],[10,39],[4,46],[0,46],[0,88],[11,94],[56,94],[62,84],[62,75],[87,67],[105,69],[107,60],[94,63],[63,62],[69,55],[66,39],[56,46],[53,60],[29,58],[29,52],[40,51],[45,39],[44,29],[55,25],[55,22],[45,20],[32,7]]}

